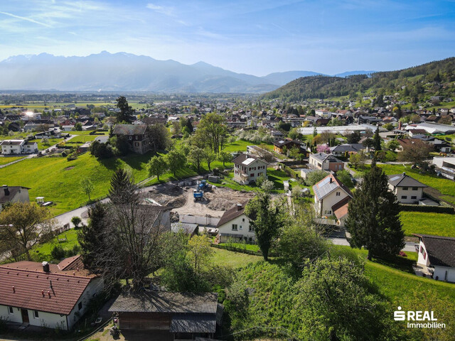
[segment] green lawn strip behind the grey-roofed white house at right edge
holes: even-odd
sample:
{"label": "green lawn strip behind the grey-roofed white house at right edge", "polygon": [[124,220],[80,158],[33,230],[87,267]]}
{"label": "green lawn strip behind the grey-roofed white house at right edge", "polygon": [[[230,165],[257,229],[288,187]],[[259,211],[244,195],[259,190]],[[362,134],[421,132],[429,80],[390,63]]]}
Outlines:
{"label": "green lawn strip behind the grey-roofed white house at right edge", "polygon": [[418,169],[411,169],[408,166],[402,165],[378,165],[382,170],[387,174],[400,174],[405,172],[407,175],[410,175],[415,180],[424,183],[432,188],[436,188],[446,197],[443,197],[445,200],[455,203],[455,181],[439,178],[436,175],[421,174]]}

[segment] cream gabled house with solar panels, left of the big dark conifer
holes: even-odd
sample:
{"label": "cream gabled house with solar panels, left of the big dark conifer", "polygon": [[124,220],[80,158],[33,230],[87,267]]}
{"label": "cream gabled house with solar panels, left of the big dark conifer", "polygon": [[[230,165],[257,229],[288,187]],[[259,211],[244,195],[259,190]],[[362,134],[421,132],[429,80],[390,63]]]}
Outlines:
{"label": "cream gabled house with solar panels, left of the big dark conifer", "polygon": [[348,217],[348,202],[353,195],[335,175],[329,174],[313,186],[314,209],[319,217],[335,215],[338,224],[344,226]]}

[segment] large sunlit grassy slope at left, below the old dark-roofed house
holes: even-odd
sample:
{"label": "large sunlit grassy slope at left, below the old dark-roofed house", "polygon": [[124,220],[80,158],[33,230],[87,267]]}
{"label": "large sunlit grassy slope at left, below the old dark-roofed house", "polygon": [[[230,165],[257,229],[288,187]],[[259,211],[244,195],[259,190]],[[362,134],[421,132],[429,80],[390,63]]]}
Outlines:
{"label": "large sunlit grassy slope at left, below the old dark-roofed house", "polygon": [[80,181],[88,178],[94,185],[91,198],[106,195],[114,171],[128,165],[132,168],[134,179],[139,182],[148,174],[145,164],[151,153],[131,154],[123,158],[110,158],[98,161],[90,153],[79,156],[74,161],[66,158],[29,158],[14,165],[0,169],[0,183],[21,185],[31,188],[29,195],[43,196],[55,202],[51,212],[59,215],[79,207],[88,200],[80,188]]}

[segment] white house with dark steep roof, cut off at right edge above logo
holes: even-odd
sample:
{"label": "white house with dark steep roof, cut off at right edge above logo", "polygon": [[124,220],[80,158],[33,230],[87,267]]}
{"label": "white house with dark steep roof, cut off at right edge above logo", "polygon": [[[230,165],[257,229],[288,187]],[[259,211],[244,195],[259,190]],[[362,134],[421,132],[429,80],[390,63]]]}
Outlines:
{"label": "white house with dark steep roof, cut off at right edge above logo", "polygon": [[417,265],[437,281],[455,282],[455,238],[414,234],[419,237]]}

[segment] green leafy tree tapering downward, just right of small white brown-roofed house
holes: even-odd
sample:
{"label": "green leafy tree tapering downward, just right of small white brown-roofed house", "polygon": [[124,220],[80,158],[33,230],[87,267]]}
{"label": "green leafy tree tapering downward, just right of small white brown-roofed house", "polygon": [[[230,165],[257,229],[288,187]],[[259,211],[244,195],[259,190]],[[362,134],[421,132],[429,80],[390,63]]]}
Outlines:
{"label": "green leafy tree tapering downward, just right of small white brown-roofed house", "polygon": [[259,193],[245,207],[245,215],[250,219],[250,226],[255,229],[255,236],[264,260],[269,260],[272,242],[284,224],[277,206],[272,205],[270,195]]}

